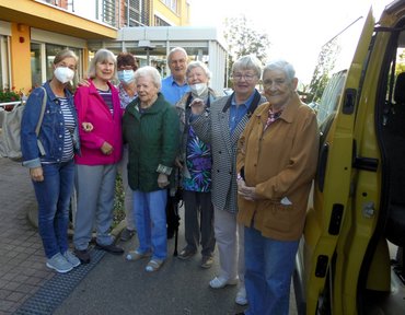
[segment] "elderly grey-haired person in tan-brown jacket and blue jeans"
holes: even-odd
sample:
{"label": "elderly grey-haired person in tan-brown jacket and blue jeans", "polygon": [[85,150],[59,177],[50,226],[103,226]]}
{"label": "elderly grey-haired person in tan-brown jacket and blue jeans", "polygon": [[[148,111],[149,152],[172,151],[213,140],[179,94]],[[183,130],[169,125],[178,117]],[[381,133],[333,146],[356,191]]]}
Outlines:
{"label": "elderly grey-haired person in tan-brown jacket and blue jeans", "polygon": [[238,221],[245,226],[244,314],[288,314],[294,257],[315,175],[319,132],[300,102],[293,67],[263,70],[268,103],[253,114],[238,145]]}

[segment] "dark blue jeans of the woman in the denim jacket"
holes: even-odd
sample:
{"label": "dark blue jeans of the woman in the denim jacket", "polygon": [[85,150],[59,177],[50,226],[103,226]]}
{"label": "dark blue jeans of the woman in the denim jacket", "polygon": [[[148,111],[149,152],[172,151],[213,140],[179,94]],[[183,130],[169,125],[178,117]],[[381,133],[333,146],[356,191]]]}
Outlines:
{"label": "dark blue jeans of the woman in the denim jacket", "polygon": [[38,229],[46,257],[68,249],[70,197],[74,183],[73,160],[43,164],[44,182],[33,182],[38,201]]}

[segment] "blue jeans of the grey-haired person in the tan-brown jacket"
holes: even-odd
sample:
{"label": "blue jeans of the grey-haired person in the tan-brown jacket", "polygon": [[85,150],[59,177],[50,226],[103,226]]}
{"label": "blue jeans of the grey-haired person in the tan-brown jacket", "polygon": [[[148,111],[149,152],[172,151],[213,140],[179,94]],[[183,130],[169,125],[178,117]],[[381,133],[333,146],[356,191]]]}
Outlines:
{"label": "blue jeans of the grey-haired person in the tan-brown jacket", "polygon": [[248,315],[288,315],[299,241],[276,241],[245,228],[245,287]]}

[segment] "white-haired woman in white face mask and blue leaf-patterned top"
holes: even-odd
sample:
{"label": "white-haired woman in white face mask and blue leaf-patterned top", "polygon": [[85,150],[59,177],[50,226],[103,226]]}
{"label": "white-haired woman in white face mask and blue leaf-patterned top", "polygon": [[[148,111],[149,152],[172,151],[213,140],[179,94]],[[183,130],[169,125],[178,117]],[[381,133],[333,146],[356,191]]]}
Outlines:
{"label": "white-haired woman in white face mask and blue leaf-patterned top", "polygon": [[192,92],[186,93],[176,109],[181,120],[182,150],[180,167],[185,209],[186,247],[178,258],[188,259],[197,253],[201,243],[202,268],[210,268],[213,262],[216,240],[213,237],[213,207],[211,202],[211,148],[202,142],[189,126],[193,104],[204,102],[206,113],[217,98],[208,88],[211,72],[201,61],[193,61],[186,70],[187,83]]}

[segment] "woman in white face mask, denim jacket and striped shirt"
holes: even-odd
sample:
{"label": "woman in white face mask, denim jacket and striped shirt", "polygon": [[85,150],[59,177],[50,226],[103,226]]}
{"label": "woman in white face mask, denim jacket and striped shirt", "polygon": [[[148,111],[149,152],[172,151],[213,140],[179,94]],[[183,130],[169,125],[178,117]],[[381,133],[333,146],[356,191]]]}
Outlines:
{"label": "woman in white face mask, denim jacket and striped shirt", "polygon": [[[71,50],[56,55],[54,78],[43,84],[45,91],[37,88],[30,94],[21,122],[23,165],[30,168],[38,202],[38,229],[47,257],[46,266],[61,273],[80,265],[68,249],[73,155],[80,148],[78,117],[68,84],[74,77],[77,63],[78,57]],[[35,128],[45,96],[45,114],[36,137]],[[44,150],[39,150],[37,140]]]}

